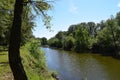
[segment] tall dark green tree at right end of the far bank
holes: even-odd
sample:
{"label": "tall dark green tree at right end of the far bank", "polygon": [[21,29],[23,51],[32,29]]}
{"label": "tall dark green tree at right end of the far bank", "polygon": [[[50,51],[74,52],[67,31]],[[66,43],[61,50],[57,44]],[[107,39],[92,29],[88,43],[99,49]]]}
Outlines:
{"label": "tall dark green tree at right end of the far bank", "polygon": [[104,25],[104,28],[98,32],[97,44],[100,51],[111,53],[109,55],[116,55],[115,53],[119,50],[120,27],[114,18],[108,19]]}

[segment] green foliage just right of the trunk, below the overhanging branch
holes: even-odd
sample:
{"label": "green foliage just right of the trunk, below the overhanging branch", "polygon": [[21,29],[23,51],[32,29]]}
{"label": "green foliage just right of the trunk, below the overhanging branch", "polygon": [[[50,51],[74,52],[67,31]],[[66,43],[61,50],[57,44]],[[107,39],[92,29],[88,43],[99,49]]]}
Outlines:
{"label": "green foliage just right of the trunk, below the overhanging branch", "polygon": [[35,16],[31,14],[29,6],[23,7],[22,25],[21,25],[21,46],[33,37],[32,29],[35,27],[33,22]]}

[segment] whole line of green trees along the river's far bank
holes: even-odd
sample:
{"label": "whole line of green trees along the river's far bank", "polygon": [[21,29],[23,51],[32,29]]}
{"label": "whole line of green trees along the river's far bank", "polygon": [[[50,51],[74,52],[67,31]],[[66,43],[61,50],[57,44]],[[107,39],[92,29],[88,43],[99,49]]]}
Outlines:
{"label": "whole line of green trees along the river's far bank", "polygon": [[71,25],[49,39],[41,38],[43,45],[76,52],[118,55],[120,51],[120,12],[100,23],[82,22]]}

